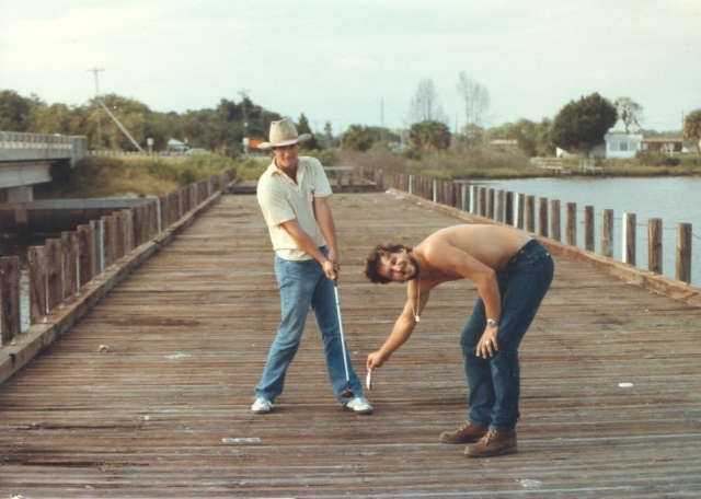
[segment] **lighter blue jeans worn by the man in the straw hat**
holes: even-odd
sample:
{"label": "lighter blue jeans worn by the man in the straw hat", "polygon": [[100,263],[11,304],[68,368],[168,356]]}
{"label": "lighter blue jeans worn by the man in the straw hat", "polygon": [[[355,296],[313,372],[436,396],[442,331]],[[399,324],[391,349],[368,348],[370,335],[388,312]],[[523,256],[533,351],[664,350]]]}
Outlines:
{"label": "lighter blue jeans worn by the man in the straw hat", "polygon": [[[326,246],[320,250],[324,255],[329,255]],[[275,402],[275,398],[283,393],[285,374],[299,348],[307,314],[311,306],[317,327],[321,333],[331,387],[338,404],[346,404],[349,398],[341,395],[346,390],[346,373],[333,281],[325,276],[317,260],[291,262],[277,255],[275,256],[275,276],[280,292],[283,320],[271,346],[263,376],[255,388],[256,398],[263,397]],[[360,397],[363,385],[353,370],[347,348],[346,361],[350,390]]]}

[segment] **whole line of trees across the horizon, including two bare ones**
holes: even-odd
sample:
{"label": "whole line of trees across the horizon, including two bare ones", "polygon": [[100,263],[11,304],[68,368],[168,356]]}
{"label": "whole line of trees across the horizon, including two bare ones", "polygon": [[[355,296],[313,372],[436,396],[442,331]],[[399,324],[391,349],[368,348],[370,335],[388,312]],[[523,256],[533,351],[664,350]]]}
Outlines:
{"label": "whole line of trees across the horizon, including two bare ones", "polygon": [[[553,118],[536,123],[519,119],[498,127],[485,128],[485,115],[490,106],[487,89],[464,72],[456,85],[464,103],[466,125],[451,134],[432,80],[420,82],[410,102],[409,130],[390,130],[365,125],[350,125],[334,135],[331,124],[323,134],[304,142],[308,150],[346,149],[367,151],[382,146],[409,153],[445,151],[449,148],[464,150],[484,146],[493,140],[516,141],[518,149],[529,158],[553,155],[555,148],[568,152],[587,153],[604,142],[605,134],[618,120],[625,132],[643,131],[646,136],[658,134],[641,130],[643,106],[630,97],[610,101],[598,93],[571,101]],[[191,148],[205,148],[229,156],[244,150],[244,138],[266,138],[269,123],[280,119],[278,113],[263,108],[242,94],[241,101],[221,98],[215,108],[161,113],[146,104],[116,94],[102,95],[100,100],[122,123],[135,140],[146,144],[152,140],[153,150],[166,148],[171,138],[184,140]],[[36,95],[25,97],[12,90],[0,91],[0,130],[36,134],[81,135],[89,138],[91,149],[133,150],[130,139],[92,98],[83,105],[47,104]],[[300,134],[311,132],[309,121],[301,114],[296,121]],[[686,116],[683,135],[699,147],[701,139],[701,109]]]}

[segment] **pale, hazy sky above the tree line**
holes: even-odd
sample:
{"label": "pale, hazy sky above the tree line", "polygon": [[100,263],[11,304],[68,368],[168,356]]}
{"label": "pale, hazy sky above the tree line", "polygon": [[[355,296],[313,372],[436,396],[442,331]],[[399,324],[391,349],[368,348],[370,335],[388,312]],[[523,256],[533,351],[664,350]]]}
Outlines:
{"label": "pale, hazy sky above the tree line", "polygon": [[248,95],[338,134],[409,127],[430,80],[455,130],[461,72],[489,91],[486,127],[598,92],[680,130],[701,108],[701,1],[0,0],[0,90],[47,104],[99,90],[184,113]]}

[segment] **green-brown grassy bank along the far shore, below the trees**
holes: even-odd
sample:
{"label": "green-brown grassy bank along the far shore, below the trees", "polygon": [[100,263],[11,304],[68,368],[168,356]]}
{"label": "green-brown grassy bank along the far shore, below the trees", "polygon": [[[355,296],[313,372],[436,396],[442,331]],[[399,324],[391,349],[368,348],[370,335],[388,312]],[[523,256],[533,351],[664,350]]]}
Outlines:
{"label": "green-brown grassy bank along the far shore, below the trees", "polygon": [[[325,166],[365,166],[443,181],[552,176],[552,172],[533,166],[520,154],[479,148],[461,153],[421,155],[397,154],[381,148],[368,152],[324,150],[302,151],[301,154],[313,155]],[[162,196],[231,169],[235,169],[239,179],[255,181],[269,163],[269,156],[233,160],[219,154],[179,158],[93,156],[78,163],[55,195],[64,198]],[[570,164],[573,174],[578,175],[577,161],[572,160]],[[604,166],[607,176],[701,175],[699,154],[683,154],[673,159],[646,155],[632,160],[604,160],[598,164]]]}

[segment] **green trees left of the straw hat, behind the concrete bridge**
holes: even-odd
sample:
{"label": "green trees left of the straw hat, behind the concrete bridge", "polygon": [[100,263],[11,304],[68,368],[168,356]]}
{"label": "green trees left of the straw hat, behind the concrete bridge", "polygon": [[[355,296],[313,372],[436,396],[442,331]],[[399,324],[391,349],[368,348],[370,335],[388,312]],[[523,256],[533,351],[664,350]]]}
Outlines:
{"label": "green trees left of the straw hat, behind the concrete bridge", "polygon": [[[271,121],[281,118],[248,96],[240,102],[221,98],[214,109],[182,114],[151,111],[143,103],[116,94],[101,95],[100,100],[139,144],[146,147],[147,139],[152,139],[157,151],[164,150],[170,139],[177,139],[191,148],[237,155],[243,148],[244,137],[267,137]],[[0,91],[0,130],[87,136],[94,150],[134,150],[128,137],[97,104],[92,98],[83,105],[49,105],[36,95],[25,97],[3,90]],[[304,127],[303,115],[301,120]]]}

